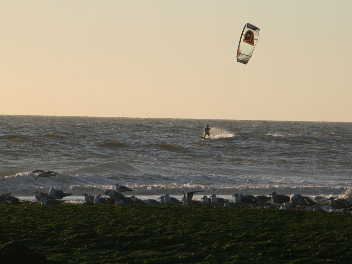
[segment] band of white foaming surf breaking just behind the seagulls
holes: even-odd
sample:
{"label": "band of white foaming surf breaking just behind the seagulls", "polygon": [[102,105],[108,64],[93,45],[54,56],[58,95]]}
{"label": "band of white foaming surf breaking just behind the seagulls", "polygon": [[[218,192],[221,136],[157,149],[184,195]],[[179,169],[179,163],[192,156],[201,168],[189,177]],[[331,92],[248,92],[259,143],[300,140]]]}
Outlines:
{"label": "band of white foaming surf breaking just behind the seagulls", "polygon": [[12,191],[14,195],[32,195],[35,189],[48,191],[50,187],[64,190],[74,195],[102,193],[106,188],[114,188],[115,183],[127,185],[134,190],[134,195],[180,194],[181,190],[204,190],[204,195],[233,195],[235,193],[269,195],[273,191],[290,195],[341,195],[348,187],[342,185],[314,185],[317,179],[295,179],[283,184],[285,180],[272,177],[224,177],[220,175],[178,175],[159,174],[127,175],[122,173],[99,174],[60,174],[49,178],[36,178],[32,172],[0,177],[0,193]]}

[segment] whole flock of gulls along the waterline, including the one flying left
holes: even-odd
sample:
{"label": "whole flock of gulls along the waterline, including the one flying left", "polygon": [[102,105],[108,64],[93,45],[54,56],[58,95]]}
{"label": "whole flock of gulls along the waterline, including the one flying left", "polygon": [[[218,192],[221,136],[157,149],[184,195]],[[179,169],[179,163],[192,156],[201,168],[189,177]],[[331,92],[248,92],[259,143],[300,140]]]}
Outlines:
{"label": "whole flock of gulls along the waterline, including the one flying left", "polygon": [[[38,177],[51,177],[58,175],[54,171],[43,171],[34,170],[33,173],[38,173]],[[215,194],[207,197],[204,195],[200,200],[193,200],[193,196],[196,193],[201,193],[200,191],[190,191],[189,193],[184,193],[181,200],[171,197],[169,194],[165,194],[159,197],[158,200],[155,199],[138,199],[136,196],[132,195],[130,197],[125,196],[123,193],[126,191],[133,191],[133,189],[126,186],[121,186],[118,183],[115,184],[115,189],[105,189],[104,194],[108,197],[101,197],[101,193],[97,195],[88,195],[84,193],[84,200],[89,205],[108,205],[108,204],[118,204],[118,205],[183,205],[183,206],[208,206],[208,207],[262,207],[262,208],[272,208],[272,209],[283,209],[283,210],[313,210],[313,211],[325,211],[322,206],[330,205],[333,209],[338,209],[343,212],[351,212],[352,202],[347,199],[334,197],[326,198],[322,196],[315,196],[312,198],[308,196],[303,196],[300,194],[292,194],[291,196],[277,194],[275,191],[269,196],[266,195],[244,195],[244,194],[234,194],[234,201],[230,201],[224,198],[216,197]],[[20,203],[17,197],[11,196],[10,193],[3,193],[0,195],[0,204],[15,204]],[[40,201],[42,206],[56,206],[64,202],[63,199],[66,196],[72,194],[65,193],[62,190],[55,190],[50,188],[48,193],[40,190],[34,191],[34,197]]]}

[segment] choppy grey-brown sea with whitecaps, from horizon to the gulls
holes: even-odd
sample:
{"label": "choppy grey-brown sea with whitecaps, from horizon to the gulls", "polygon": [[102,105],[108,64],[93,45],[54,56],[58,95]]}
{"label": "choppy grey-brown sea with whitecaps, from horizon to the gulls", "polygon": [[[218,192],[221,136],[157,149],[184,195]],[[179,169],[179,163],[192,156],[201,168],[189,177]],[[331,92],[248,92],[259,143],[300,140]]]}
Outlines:
{"label": "choppy grey-brown sea with whitecaps, from horizon to the gulls", "polygon": [[341,196],[352,186],[352,123],[0,115],[0,193],[81,197],[116,183],[137,197]]}

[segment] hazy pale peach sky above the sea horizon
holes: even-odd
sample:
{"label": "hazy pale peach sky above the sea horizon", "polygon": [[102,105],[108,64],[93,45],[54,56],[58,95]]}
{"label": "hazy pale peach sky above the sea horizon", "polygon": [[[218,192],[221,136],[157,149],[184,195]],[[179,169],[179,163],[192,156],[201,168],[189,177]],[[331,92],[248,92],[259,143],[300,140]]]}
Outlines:
{"label": "hazy pale peach sky above the sea horizon", "polygon": [[[352,1],[0,0],[0,114],[352,121]],[[247,65],[245,23],[259,27]]]}

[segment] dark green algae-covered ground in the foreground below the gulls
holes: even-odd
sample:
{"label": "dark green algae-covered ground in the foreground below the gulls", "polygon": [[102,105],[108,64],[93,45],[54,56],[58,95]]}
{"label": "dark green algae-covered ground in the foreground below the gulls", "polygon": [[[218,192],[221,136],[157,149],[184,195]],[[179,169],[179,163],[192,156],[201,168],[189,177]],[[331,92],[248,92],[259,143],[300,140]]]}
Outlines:
{"label": "dark green algae-covered ground in the foreground below the gulls", "polygon": [[352,263],[352,215],[182,206],[0,206],[12,240],[54,263]]}

